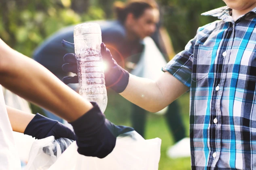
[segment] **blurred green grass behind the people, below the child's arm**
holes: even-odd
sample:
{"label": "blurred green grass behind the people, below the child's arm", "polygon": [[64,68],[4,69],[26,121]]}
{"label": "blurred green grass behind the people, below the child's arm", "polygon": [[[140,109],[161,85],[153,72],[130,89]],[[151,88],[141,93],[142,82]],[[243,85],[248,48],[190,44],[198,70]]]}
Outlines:
{"label": "blurred green grass behind the people, below the child's arm", "polygon": [[[130,103],[120,95],[108,93],[108,108],[105,112],[106,117],[115,124],[130,126]],[[189,93],[182,95],[179,99],[181,114],[186,126],[186,136],[189,136]],[[159,137],[162,139],[161,158],[159,170],[190,170],[190,158],[170,159],[166,155],[169,146],[173,145],[172,135],[169,133],[164,116],[149,113],[146,123],[145,139]]]}

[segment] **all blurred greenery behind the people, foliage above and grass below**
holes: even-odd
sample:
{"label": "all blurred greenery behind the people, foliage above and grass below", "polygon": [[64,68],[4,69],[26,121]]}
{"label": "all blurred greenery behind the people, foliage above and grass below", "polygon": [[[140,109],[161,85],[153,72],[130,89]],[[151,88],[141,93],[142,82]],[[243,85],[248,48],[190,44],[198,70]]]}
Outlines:
{"label": "all blurred greenery behind the people, foliage above and grass below", "polygon": [[[58,29],[84,21],[114,18],[115,0],[0,0],[0,38],[27,56]],[[122,0],[125,1],[125,0]],[[184,49],[197,28],[215,21],[200,14],[224,6],[222,0],[158,0],[163,25],[176,53]],[[110,91],[109,93],[114,93]],[[178,99],[189,136],[189,94]],[[32,106],[33,112],[40,110]],[[129,125],[130,103],[120,95],[108,95],[105,112],[115,124]],[[162,139],[159,170],[189,170],[190,158],[169,159],[165,152],[173,144],[163,116],[149,113],[146,139]]]}

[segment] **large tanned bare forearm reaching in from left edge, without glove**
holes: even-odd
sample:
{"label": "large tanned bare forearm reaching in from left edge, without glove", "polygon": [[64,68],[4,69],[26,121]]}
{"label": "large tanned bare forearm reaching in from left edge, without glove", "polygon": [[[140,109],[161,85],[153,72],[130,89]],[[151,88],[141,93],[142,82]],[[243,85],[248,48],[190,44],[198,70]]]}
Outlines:
{"label": "large tanned bare forearm reaching in from left edge, without glove", "polygon": [[0,84],[72,122],[93,106],[42,65],[0,39]]}

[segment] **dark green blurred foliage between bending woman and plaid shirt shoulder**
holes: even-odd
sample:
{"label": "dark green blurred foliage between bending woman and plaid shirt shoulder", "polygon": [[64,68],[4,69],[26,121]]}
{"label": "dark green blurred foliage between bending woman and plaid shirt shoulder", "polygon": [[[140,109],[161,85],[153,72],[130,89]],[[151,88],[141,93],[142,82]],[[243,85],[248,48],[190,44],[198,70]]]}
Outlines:
{"label": "dark green blurred foliage between bending woman and plaid shirt shoulder", "polygon": [[167,28],[176,53],[184,50],[188,41],[195,37],[198,27],[216,21],[216,17],[201,13],[225,6],[222,0],[158,0],[163,24]]}

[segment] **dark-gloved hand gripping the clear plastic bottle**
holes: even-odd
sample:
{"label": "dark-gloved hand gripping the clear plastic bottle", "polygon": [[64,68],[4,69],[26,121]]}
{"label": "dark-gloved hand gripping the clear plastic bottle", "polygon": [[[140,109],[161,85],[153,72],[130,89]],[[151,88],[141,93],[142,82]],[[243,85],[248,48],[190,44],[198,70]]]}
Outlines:
{"label": "dark-gloved hand gripping the clear plastic bottle", "polygon": [[[74,49],[74,44],[62,40],[62,45],[65,48]],[[125,90],[129,81],[129,73],[119,66],[113,59],[110,50],[106,48],[105,44],[101,44],[101,54],[104,62],[106,62],[108,69],[104,70],[106,87],[112,88],[117,93],[121,93]],[[74,53],[66,54],[63,57],[65,64],[62,66],[62,70],[65,72],[72,72],[77,74],[77,62]],[[65,84],[78,83],[78,76],[63,77]]]}

